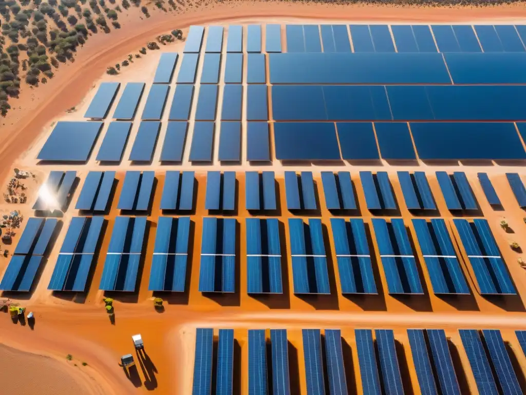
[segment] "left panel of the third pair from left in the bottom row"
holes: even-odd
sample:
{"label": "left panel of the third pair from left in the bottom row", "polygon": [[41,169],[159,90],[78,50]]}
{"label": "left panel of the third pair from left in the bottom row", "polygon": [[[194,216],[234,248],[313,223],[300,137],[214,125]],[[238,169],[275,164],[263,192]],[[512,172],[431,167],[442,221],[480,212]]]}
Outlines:
{"label": "left panel of the third pair from left in the bottom row", "polygon": [[319,329],[302,329],[305,376],[309,395],[325,395],[323,360],[321,358],[321,333]]}

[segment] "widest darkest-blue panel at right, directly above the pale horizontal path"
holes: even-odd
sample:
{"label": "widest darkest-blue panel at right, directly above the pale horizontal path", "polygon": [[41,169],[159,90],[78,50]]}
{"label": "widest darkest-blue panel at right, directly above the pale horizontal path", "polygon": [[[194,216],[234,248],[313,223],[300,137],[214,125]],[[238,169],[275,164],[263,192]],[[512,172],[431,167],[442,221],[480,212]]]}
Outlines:
{"label": "widest darkest-blue panel at right, directly above the pale horizontal path", "polygon": [[412,122],[410,127],[421,160],[526,159],[513,123]]}

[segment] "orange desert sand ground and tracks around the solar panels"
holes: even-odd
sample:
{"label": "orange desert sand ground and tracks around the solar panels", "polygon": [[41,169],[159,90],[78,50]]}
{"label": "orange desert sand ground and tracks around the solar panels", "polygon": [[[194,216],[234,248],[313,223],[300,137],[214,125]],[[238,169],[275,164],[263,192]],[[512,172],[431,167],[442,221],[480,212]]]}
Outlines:
{"label": "orange desert sand ground and tracks around the solar panels", "polygon": [[[326,23],[327,21],[345,21],[345,23],[443,23],[443,22],[468,22],[468,23],[524,23],[526,18],[526,5],[513,4],[494,7],[468,8],[468,7],[412,7],[412,6],[370,6],[370,5],[327,5],[327,4],[302,4],[302,3],[249,3],[229,2],[209,6],[186,12],[184,15],[153,15],[146,21],[123,23],[123,27],[110,35],[95,35],[78,51],[75,63],[60,66],[56,77],[37,90],[29,92],[29,88],[21,93],[21,98],[11,102],[14,111],[0,120],[0,157],[2,169],[0,180],[8,181],[14,167],[32,171],[37,181],[26,180],[28,186],[28,203],[25,205],[10,205],[0,203],[1,213],[19,209],[25,218],[32,216],[31,204],[34,202],[39,184],[45,180],[49,170],[69,169],[68,166],[36,166],[36,153],[47,138],[53,122],[57,120],[80,119],[84,114],[89,101],[95,94],[95,87],[100,81],[150,81],[157,65],[160,51],[148,53],[147,56],[136,60],[126,71],[118,76],[109,76],[106,72],[108,65],[113,65],[122,60],[128,53],[136,51],[148,40],[158,34],[163,34],[173,28],[182,28],[185,35],[187,28],[192,24],[246,24],[246,23]],[[170,44],[163,51],[180,51],[182,45]],[[177,70],[176,70],[177,72]],[[148,80],[148,78],[150,80]],[[171,96],[171,95],[170,95]],[[118,100],[117,96],[117,100]],[[171,100],[171,97],[170,99]],[[144,101],[143,104],[144,105]],[[169,107],[170,102],[167,103]],[[220,105],[220,104],[219,104]],[[77,111],[66,114],[67,108],[75,106]],[[139,108],[139,111],[140,108]],[[220,111],[220,108],[219,108]],[[165,112],[166,113],[166,112]],[[134,138],[138,122],[130,136]],[[104,133],[103,131],[102,133]],[[161,132],[162,133],[162,132]],[[159,142],[163,140],[159,136]],[[187,137],[187,141],[190,137]],[[98,139],[94,152],[98,150],[102,139]],[[129,153],[130,145],[124,157]],[[159,147],[160,143],[158,143]],[[217,146],[217,144],[216,144]],[[454,300],[441,299],[434,295],[430,288],[429,275],[423,264],[422,256],[418,250],[421,278],[424,280],[422,297],[397,299],[386,293],[387,284],[382,273],[380,258],[376,247],[371,249],[372,264],[375,271],[376,283],[379,288],[377,296],[368,298],[344,297],[340,291],[334,245],[331,236],[325,241],[328,252],[329,278],[331,282],[331,295],[326,297],[299,298],[292,293],[291,262],[288,255],[290,246],[288,240],[287,219],[289,213],[284,209],[285,185],[282,179],[283,166],[275,161],[271,170],[275,170],[278,180],[278,196],[280,199],[280,222],[284,224],[282,237],[282,263],[287,266],[284,278],[284,294],[275,297],[255,299],[246,292],[246,255],[244,229],[245,218],[249,216],[244,206],[244,171],[248,169],[247,163],[232,166],[229,170],[236,170],[239,181],[238,212],[236,218],[240,224],[241,232],[238,235],[239,252],[241,257],[237,270],[236,289],[238,292],[231,295],[217,295],[214,298],[203,297],[198,292],[199,279],[199,253],[201,243],[202,216],[207,215],[204,210],[205,183],[207,170],[219,170],[219,166],[190,166],[186,164],[177,166],[177,170],[188,170],[190,167],[196,171],[198,181],[197,210],[191,215],[194,223],[190,234],[188,256],[188,272],[190,282],[189,290],[183,294],[161,294],[165,300],[166,310],[157,313],[152,307],[152,294],[147,290],[151,254],[155,241],[155,226],[159,210],[160,191],[163,190],[164,172],[174,170],[174,166],[158,166],[159,148],[153,164],[138,167],[138,170],[157,170],[157,186],[154,197],[153,210],[148,219],[152,222],[147,234],[146,260],[144,268],[139,272],[139,291],[133,295],[111,295],[115,298],[115,323],[108,320],[104,310],[102,298],[103,291],[98,290],[102,276],[105,252],[113,229],[117,199],[113,200],[112,210],[106,218],[109,220],[102,248],[96,260],[96,269],[93,280],[89,284],[89,291],[84,295],[60,294],[55,295],[47,290],[47,284],[56,262],[58,249],[67,229],[67,224],[72,216],[77,215],[73,210],[73,203],[64,214],[64,226],[56,240],[52,253],[38,280],[35,292],[26,300],[13,299],[34,311],[36,324],[34,328],[28,325],[13,324],[8,314],[0,314],[0,394],[133,394],[154,390],[159,394],[191,393],[191,381],[194,366],[195,328],[234,328],[235,338],[239,345],[235,352],[234,366],[234,393],[247,394],[248,382],[248,341],[247,329],[257,328],[287,328],[288,338],[292,344],[289,348],[290,376],[292,393],[306,394],[305,371],[302,362],[302,328],[341,328],[343,338],[343,352],[346,363],[347,381],[351,393],[362,393],[358,357],[353,330],[355,328],[389,328],[395,330],[395,338],[399,341],[401,354],[400,368],[404,380],[404,387],[412,388],[413,393],[420,393],[416,372],[413,368],[411,352],[407,338],[407,328],[443,328],[446,330],[451,342],[456,345],[453,350],[453,361],[456,364],[457,374],[462,387],[462,393],[476,393],[474,378],[469,369],[466,353],[464,352],[458,335],[459,328],[499,328],[505,341],[509,342],[515,350],[517,360],[513,361],[523,368],[526,367],[526,358],[520,350],[517,339],[514,337],[515,329],[526,329],[525,301],[526,281],[523,269],[516,263],[519,253],[512,251],[509,240],[522,242],[526,240],[526,231],[522,218],[524,212],[519,208],[509,188],[504,173],[513,169],[524,175],[523,168],[513,166],[478,166],[477,164],[461,164],[460,166],[440,166],[440,170],[462,170],[467,173],[473,191],[481,205],[485,218],[489,221],[493,234],[497,239],[503,258],[507,262],[511,275],[517,285],[519,295],[509,299],[488,300],[481,298],[474,288],[471,266],[466,264],[466,253],[461,245],[455,245],[459,261],[467,274],[468,282],[473,293]],[[186,153],[186,155],[188,155]],[[75,166],[80,184],[77,187],[78,196],[82,189],[85,176],[89,170],[100,170],[94,157],[83,166]],[[246,156],[246,155],[244,155]],[[347,167],[350,167],[346,164]],[[129,169],[129,162],[123,161],[120,166],[108,166],[108,170],[117,170],[119,183],[115,196],[120,195],[124,171]],[[393,189],[400,200],[401,189],[397,183],[397,170],[411,170],[409,166],[401,164],[383,163],[376,166],[378,169],[390,173]],[[438,167],[423,165],[420,170],[434,173]],[[304,167],[289,167],[290,170],[305,170]],[[352,166],[353,180],[356,180],[357,171],[366,169],[365,166]],[[371,166],[367,167],[371,170]],[[251,170],[255,170],[251,167]],[[320,187],[321,170],[327,170],[322,165],[308,166],[308,170],[315,172],[315,181],[318,184],[319,200],[324,201],[323,190]],[[333,170],[333,169],[330,169]],[[341,169],[338,169],[341,170]],[[349,170],[349,169],[346,169]],[[477,172],[491,173],[495,190],[498,191],[504,211],[493,211],[485,200]],[[446,209],[442,194],[436,179],[429,179],[433,195],[436,197],[441,216],[449,221],[451,215]],[[361,183],[355,182],[359,206],[362,208],[361,216],[370,226],[370,213],[365,208],[365,197]],[[325,209],[321,210],[321,220],[330,234],[330,215]],[[409,232],[414,240],[414,230],[411,228],[412,215],[404,207],[400,207],[400,215],[406,220]],[[499,226],[499,221],[505,218],[514,233],[505,233]],[[23,230],[18,231],[20,234]],[[451,229],[456,235],[456,230]],[[14,245],[9,250],[14,250],[19,234],[15,236]],[[372,244],[370,244],[372,246]],[[0,273],[5,271],[8,258],[0,258]],[[469,268],[469,269],[468,269]],[[12,295],[3,295],[12,297]],[[18,295],[19,297],[19,295]],[[12,297],[14,298],[14,297]],[[122,368],[118,366],[119,358],[123,354],[133,353],[131,335],[140,333],[145,341],[145,350],[148,358],[143,364],[137,363],[137,381],[129,380]],[[397,346],[398,347],[398,346]],[[66,355],[71,354],[73,360],[67,361]],[[351,361],[351,362],[348,362]],[[87,366],[82,363],[86,362]]]}

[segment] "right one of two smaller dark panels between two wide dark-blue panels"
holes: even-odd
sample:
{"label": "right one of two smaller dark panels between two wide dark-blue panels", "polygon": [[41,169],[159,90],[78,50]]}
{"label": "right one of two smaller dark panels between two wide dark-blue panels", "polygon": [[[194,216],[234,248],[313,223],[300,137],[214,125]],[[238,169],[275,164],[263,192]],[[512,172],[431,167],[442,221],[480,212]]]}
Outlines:
{"label": "right one of two smaller dark panels between two wide dark-blue panels", "polygon": [[407,123],[375,123],[380,154],[385,160],[416,160]]}

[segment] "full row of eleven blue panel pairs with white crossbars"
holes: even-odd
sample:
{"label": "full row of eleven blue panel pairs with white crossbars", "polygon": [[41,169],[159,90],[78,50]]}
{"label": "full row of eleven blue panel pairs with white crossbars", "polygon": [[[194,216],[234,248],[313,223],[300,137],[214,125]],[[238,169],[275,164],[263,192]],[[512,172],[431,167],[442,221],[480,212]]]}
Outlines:
{"label": "full row of eleven blue panel pairs with white crossbars", "polygon": [[[119,217],[120,218],[120,217]],[[413,249],[401,219],[372,219],[380,259],[390,294],[422,294]],[[436,294],[469,294],[470,290],[442,219],[412,220]],[[515,294],[511,277],[486,220],[454,219],[481,294]],[[75,217],[60,249],[49,289],[84,291],[96,253],[103,217]],[[320,219],[289,219],[294,293],[330,293],[327,255]],[[53,225],[53,226],[52,226]],[[22,265],[31,255],[44,255],[56,225],[28,222],[2,287],[28,291],[40,264]],[[146,218],[116,220],[100,288],[134,291],[143,251]],[[281,293],[282,262],[277,219],[247,219],[247,291]],[[38,232],[42,229],[42,234]],[[342,293],[377,293],[365,223],[361,219],[331,219]],[[159,217],[149,289],[184,291],[190,219]],[[199,291],[235,292],[238,224],[236,219],[204,218]],[[32,248],[35,246],[36,252]],[[19,255],[27,255],[21,256]],[[124,262],[124,263],[123,263]],[[21,286],[26,278],[29,287]],[[78,277],[78,279],[77,279]],[[16,279],[19,281],[15,281]],[[29,281],[29,278],[31,278]],[[120,280],[119,280],[120,279]],[[118,287],[116,284],[120,284]],[[109,287],[109,288],[108,288]]]}

